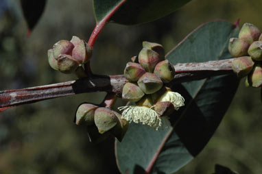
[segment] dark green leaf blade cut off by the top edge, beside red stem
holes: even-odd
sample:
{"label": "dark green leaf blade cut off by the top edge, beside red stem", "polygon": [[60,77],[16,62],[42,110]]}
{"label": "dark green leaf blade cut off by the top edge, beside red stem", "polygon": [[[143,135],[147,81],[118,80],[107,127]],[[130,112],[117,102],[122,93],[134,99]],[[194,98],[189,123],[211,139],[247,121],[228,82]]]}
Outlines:
{"label": "dark green leaf blade cut off by the top edge, beside red stem", "polygon": [[[102,21],[123,0],[93,0],[96,21]],[[126,0],[110,21],[134,25],[167,16],[191,0]]]}

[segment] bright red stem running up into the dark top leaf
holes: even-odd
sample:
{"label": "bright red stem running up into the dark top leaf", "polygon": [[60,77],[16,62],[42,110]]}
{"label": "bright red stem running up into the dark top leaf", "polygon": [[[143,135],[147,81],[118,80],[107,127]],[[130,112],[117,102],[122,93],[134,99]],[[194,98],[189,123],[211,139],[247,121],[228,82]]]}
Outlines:
{"label": "bright red stem running up into the dark top leaf", "polygon": [[97,40],[97,37],[99,36],[100,32],[102,31],[102,29],[106,26],[106,23],[108,22],[108,20],[111,18],[111,16],[113,14],[115,14],[115,12],[121,7],[121,5],[123,5],[123,3],[125,3],[126,0],[121,1],[117,6],[115,6],[115,8],[113,8],[104,18],[102,21],[99,21],[99,23],[97,23],[97,25],[95,25],[95,29],[93,30],[89,40],[88,40],[88,45],[91,47],[91,49],[93,49],[94,45],[95,45],[95,40]]}

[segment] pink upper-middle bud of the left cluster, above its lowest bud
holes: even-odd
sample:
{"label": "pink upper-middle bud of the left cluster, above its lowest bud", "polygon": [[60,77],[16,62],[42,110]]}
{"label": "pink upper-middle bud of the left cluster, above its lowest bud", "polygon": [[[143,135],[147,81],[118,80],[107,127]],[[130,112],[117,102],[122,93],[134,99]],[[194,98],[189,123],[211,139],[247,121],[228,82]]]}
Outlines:
{"label": "pink upper-middle bud of the left cluster, above its lowest bud", "polygon": [[72,55],[73,47],[69,40],[59,40],[53,45],[53,57],[58,60],[60,54]]}

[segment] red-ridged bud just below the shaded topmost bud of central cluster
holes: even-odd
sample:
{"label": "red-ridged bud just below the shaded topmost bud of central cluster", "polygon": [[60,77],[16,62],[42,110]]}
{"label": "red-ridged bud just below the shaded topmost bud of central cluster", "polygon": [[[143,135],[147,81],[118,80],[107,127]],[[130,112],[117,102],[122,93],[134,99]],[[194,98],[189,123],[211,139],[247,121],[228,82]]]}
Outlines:
{"label": "red-ridged bud just below the shaded topmost bud of central cluster", "polygon": [[160,61],[160,55],[151,49],[143,48],[139,53],[139,64],[147,72],[153,73],[154,67]]}

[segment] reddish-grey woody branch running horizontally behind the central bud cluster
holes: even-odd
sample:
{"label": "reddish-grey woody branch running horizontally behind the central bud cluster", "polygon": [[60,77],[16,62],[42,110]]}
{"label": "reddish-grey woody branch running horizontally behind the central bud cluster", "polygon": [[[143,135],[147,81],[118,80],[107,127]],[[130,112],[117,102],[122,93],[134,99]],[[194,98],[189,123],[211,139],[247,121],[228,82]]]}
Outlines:
{"label": "reddish-grey woody branch running horizontally behind the central bud cluster", "polygon": [[[174,66],[176,69],[175,79],[170,85],[233,73],[231,69],[232,60],[176,64]],[[84,92],[105,91],[120,97],[123,85],[126,82],[127,80],[123,75],[95,75],[92,78],[83,78],[60,84],[36,86],[19,90],[3,90],[0,91],[0,109],[11,105],[33,103]]]}

